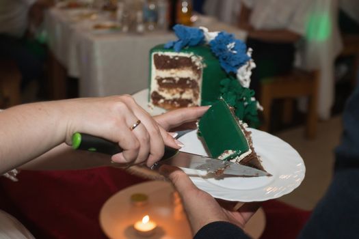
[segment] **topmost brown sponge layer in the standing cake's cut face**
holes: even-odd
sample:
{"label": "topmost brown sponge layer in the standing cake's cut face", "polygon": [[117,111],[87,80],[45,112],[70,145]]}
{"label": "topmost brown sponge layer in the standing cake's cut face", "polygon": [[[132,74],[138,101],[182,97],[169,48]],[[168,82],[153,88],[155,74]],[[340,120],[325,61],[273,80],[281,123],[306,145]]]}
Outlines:
{"label": "topmost brown sponge layer in the standing cake's cut face", "polygon": [[191,70],[193,70],[198,76],[200,76],[202,70],[194,64],[191,57],[154,54],[153,61],[157,70],[191,68]]}

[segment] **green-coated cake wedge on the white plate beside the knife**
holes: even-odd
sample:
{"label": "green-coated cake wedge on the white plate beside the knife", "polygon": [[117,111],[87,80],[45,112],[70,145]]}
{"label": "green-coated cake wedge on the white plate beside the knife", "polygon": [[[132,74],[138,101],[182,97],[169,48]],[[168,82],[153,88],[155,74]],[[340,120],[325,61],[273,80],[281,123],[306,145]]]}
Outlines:
{"label": "green-coated cake wedge on the white plate beside the knife", "polygon": [[223,98],[215,102],[198,122],[198,135],[211,157],[264,170],[252,145],[251,132]]}

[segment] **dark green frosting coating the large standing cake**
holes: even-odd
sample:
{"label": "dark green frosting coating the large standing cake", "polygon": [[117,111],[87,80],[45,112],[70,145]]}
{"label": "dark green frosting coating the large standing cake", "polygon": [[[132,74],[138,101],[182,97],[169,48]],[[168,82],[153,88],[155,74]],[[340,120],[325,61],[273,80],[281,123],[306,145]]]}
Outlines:
{"label": "dark green frosting coating the large standing cake", "polygon": [[[149,86],[151,81],[151,74],[152,74],[152,53],[160,52],[175,52],[172,48],[171,49],[165,49],[163,48],[163,44],[155,46],[150,50],[150,76],[149,76]],[[181,53],[193,53],[194,55],[199,55],[203,57],[203,64],[205,65],[203,69],[202,74],[202,103],[201,105],[207,105],[204,104],[205,102],[212,102],[214,100],[217,100],[220,97],[220,87],[221,87],[221,80],[227,77],[226,72],[222,70],[222,67],[220,66],[220,61],[218,61],[217,57],[213,55],[211,48],[209,46],[194,46],[194,47],[187,47],[183,48],[181,50]],[[148,100],[149,100],[148,96]]]}

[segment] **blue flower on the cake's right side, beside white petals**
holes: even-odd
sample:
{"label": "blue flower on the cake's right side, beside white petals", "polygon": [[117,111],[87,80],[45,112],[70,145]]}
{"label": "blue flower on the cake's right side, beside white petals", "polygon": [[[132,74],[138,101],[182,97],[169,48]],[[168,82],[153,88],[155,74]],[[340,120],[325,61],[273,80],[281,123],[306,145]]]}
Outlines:
{"label": "blue flower on the cake's right side, beside white petals", "polygon": [[250,60],[245,43],[236,40],[232,34],[221,31],[215,39],[209,42],[209,45],[227,73],[237,73],[238,68]]}

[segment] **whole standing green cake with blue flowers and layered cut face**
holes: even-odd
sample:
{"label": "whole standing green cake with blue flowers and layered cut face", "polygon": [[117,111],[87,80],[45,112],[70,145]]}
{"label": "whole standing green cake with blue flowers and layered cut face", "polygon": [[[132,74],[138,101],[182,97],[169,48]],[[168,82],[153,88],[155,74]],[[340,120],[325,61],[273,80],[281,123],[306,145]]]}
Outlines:
{"label": "whole standing green cake with blue flowers and layered cut face", "polygon": [[250,127],[259,126],[250,87],[252,49],[224,31],[174,26],[178,40],[150,50],[150,106],[177,109],[211,105],[222,97]]}

